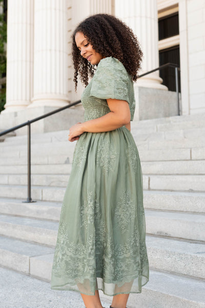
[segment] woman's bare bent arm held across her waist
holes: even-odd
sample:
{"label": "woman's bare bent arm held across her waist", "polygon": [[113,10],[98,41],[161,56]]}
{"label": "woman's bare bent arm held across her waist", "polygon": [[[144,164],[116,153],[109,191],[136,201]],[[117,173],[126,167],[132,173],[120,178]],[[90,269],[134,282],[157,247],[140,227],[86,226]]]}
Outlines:
{"label": "woman's bare bent arm held across her waist", "polygon": [[84,132],[109,132],[130,123],[130,108],[127,101],[107,99],[110,112],[103,117],[77,123],[70,128],[69,141],[77,140]]}

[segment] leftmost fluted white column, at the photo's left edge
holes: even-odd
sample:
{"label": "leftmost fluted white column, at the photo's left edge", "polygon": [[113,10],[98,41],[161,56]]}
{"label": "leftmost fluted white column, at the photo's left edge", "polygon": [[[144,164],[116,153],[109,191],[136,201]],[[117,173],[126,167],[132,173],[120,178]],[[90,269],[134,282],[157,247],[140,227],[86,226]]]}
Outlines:
{"label": "leftmost fluted white column, at the photo's left edge", "polygon": [[6,79],[2,114],[25,109],[33,91],[33,0],[8,0]]}

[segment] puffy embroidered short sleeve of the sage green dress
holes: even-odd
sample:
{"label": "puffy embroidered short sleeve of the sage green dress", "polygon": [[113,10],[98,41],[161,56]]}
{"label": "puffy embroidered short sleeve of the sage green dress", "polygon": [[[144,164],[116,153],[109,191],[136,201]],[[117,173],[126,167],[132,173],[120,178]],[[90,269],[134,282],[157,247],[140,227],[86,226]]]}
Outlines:
{"label": "puffy embroidered short sleeve of the sage green dress", "polygon": [[93,76],[90,96],[125,100],[130,104],[128,84],[129,76],[124,65],[113,57],[104,58]]}

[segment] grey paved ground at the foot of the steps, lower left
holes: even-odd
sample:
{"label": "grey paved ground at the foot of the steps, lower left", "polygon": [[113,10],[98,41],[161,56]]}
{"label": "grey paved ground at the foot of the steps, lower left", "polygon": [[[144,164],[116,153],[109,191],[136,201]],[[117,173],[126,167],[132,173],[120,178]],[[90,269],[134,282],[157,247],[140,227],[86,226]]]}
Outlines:
{"label": "grey paved ground at the foot of the steps, lower left", "polygon": [[85,308],[77,292],[52,290],[48,282],[3,267],[0,277],[1,308]]}

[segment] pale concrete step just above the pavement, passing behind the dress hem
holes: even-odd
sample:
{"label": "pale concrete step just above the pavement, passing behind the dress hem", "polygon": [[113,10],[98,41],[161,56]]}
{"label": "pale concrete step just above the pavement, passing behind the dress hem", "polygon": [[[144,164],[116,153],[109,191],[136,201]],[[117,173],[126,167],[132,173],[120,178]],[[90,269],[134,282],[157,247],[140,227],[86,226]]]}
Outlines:
{"label": "pale concrete step just above the pavement, passing behind the dress hem", "polygon": [[[154,270],[204,279],[204,244],[146,237],[149,266]],[[0,266],[50,280],[54,247],[0,236]]]}

